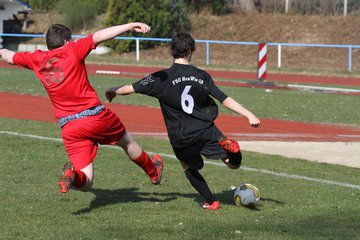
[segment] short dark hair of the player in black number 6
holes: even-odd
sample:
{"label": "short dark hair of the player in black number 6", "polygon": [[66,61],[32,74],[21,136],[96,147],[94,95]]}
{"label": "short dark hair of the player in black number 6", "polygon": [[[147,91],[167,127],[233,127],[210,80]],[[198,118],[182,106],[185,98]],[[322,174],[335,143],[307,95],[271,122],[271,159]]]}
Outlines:
{"label": "short dark hair of the player in black number 6", "polygon": [[185,58],[195,51],[195,41],[187,33],[175,34],[170,43],[170,53],[174,58]]}

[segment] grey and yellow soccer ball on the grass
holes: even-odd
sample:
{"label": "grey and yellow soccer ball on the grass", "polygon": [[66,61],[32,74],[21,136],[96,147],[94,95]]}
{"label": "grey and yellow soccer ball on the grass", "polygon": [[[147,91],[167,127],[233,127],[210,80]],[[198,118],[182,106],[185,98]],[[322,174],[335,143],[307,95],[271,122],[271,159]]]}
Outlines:
{"label": "grey and yellow soccer ball on the grass", "polygon": [[260,192],[257,187],[250,183],[243,183],[235,188],[234,201],[236,205],[254,208],[260,200]]}

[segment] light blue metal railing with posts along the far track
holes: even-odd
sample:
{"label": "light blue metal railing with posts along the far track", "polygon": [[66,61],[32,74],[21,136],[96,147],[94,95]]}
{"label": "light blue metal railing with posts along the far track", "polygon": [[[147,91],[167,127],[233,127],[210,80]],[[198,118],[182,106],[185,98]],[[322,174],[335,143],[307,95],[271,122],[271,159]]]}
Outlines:
{"label": "light blue metal railing with posts along the far track", "polygon": [[[27,37],[27,38],[45,38],[44,34],[14,34],[14,33],[2,33],[0,37]],[[82,35],[73,35],[73,38],[84,38]],[[158,41],[158,42],[170,42],[170,38],[146,38],[146,37],[116,37],[117,40],[134,40],[136,41],[136,60],[140,59],[140,41]],[[258,42],[239,42],[239,41],[220,41],[220,40],[195,40],[197,43],[204,43],[206,49],[206,65],[210,64],[210,44],[231,44],[231,45],[246,45],[246,46],[258,46]],[[278,67],[281,67],[281,55],[282,47],[316,47],[316,48],[339,48],[348,50],[348,71],[352,72],[353,56],[352,50],[359,49],[360,45],[341,45],[341,44],[303,44],[303,43],[272,43],[268,42],[268,46],[274,46],[278,48]]]}

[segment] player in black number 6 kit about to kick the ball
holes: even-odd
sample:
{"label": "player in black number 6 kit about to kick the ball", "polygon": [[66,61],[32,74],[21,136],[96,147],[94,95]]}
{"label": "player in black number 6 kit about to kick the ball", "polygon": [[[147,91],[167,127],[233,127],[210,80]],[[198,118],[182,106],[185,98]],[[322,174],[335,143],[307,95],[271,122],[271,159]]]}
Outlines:
{"label": "player in black number 6 kit about to kick the ball", "polygon": [[190,65],[195,41],[187,33],[175,34],[170,43],[174,64],[135,82],[132,85],[112,87],[105,95],[111,102],[116,95],[141,93],[159,100],[170,143],[191,185],[206,199],[203,208],[220,209],[220,202],[210,191],[200,174],[204,161],[222,159],[231,169],[241,165],[241,152],[237,141],[224,136],[215,126],[218,106],[225,107],[248,118],[252,127],[260,120],[233,98],[223,93],[211,76]]}

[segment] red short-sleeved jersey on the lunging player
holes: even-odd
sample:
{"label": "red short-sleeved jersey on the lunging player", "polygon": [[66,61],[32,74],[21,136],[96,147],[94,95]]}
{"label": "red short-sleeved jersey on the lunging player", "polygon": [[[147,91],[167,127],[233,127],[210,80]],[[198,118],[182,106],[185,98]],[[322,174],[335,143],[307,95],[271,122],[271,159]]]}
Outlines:
{"label": "red short-sleeved jersey on the lunging player", "polygon": [[95,48],[93,35],[89,35],[50,51],[16,53],[13,61],[34,71],[50,97],[56,118],[61,118],[100,104],[85,68],[85,58]]}

